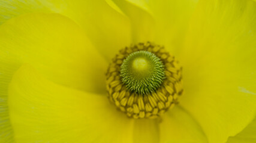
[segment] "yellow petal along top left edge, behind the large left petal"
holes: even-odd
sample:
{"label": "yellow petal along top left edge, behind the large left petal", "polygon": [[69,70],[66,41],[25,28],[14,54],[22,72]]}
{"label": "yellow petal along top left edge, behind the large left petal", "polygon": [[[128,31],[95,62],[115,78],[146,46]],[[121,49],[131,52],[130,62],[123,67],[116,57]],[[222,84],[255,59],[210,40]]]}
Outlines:
{"label": "yellow petal along top left edge, behind the large left petal", "polygon": [[29,0],[0,1],[0,24],[20,14],[59,13],[76,21],[107,60],[118,49],[130,44],[128,18],[104,0]]}

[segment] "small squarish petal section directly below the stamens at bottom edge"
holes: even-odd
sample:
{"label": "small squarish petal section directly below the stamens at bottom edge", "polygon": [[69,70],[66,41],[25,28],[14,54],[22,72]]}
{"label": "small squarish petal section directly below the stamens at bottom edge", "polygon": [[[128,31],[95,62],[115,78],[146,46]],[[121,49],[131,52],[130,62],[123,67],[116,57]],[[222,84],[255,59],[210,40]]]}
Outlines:
{"label": "small squarish petal section directly below the stamens at bottom edge", "polygon": [[134,143],[156,143],[159,142],[159,122],[157,119],[134,120],[133,131]]}

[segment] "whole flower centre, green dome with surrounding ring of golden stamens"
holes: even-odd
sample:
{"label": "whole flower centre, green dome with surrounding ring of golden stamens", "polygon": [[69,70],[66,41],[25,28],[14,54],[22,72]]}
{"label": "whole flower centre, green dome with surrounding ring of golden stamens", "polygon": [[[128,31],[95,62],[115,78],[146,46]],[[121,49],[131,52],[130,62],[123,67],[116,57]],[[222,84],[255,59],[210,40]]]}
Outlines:
{"label": "whole flower centre, green dome with surrounding ring of golden stamens", "polygon": [[151,42],[121,49],[106,76],[109,100],[134,119],[161,116],[183,93],[182,67]]}

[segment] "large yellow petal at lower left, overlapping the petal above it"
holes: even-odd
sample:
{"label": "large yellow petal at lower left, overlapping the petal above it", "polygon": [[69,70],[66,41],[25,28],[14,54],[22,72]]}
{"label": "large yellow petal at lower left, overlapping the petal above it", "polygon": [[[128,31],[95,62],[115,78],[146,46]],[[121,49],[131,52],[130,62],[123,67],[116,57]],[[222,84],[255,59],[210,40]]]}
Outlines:
{"label": "large yellow petal at lower left, overlapping the petal above it", "polygon": [[25,65],[9,88],[16,142],[131,142],[133,120],[107,97],[44,79]]}

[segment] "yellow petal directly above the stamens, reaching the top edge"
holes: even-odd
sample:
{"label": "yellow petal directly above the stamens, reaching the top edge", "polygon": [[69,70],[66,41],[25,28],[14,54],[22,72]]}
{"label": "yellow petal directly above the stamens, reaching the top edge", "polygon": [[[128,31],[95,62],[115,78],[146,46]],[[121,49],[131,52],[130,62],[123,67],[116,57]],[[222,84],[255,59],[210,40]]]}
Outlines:
{"label": "yellow petal directly above the stamens, reaching the top edge", "polygon": [[131,20],[132,42],[153,41],[179,57],[197,0],[113,0]]}

